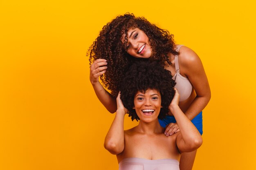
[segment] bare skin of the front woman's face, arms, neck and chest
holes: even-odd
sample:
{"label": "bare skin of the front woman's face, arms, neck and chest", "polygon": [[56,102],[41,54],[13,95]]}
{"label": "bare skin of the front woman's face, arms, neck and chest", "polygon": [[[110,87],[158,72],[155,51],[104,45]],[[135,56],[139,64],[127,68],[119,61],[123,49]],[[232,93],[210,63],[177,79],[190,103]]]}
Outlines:
{"label": "bare skin of the front woman's face, arms, neck and chest", "polygon": [[[117,114],[106,135],[104,147],[117,155],[118,162],[128,157],[144,159],[180,159],[182,152],[190,152],[202,145],[202,137],[195,126],[182,113],[178,106],[179,94],[175,93],[169,106],[170,111],[180,124],[181,131],[173,137],[166,137],[157,119],[161,108],[159,91],[148,89],[145,93],[137,92],[134,105],[140,118],[139,125],[124,131],[124,115],[126,109],[117,97]],[[141,110],[155,110],[150,115],[144,115]]]}

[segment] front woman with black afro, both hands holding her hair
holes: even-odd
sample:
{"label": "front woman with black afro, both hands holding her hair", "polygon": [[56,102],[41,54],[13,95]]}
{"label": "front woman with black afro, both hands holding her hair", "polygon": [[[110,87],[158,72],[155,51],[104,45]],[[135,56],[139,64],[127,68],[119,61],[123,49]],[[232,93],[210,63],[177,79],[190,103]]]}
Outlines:
{"label": "front woman with black afro, both hands holding her hair", "polygon": [[[179,93],[168,70],[157,62],[136,62],[128,69],[117,97],[115,119],[104,147],[117,155],[119,170],[179,170],[182,152],[202,145],[202,137],[179,108]],[[139,124],[124,130],[124,116]],[[171,137],[164,135],[158,119],[171,112],[180,128]]]}

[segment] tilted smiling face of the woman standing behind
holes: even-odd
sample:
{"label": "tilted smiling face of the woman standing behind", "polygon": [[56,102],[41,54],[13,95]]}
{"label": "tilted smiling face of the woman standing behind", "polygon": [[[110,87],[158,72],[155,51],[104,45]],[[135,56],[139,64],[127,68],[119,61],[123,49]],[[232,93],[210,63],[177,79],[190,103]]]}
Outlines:
{"label": "tilted smiling face of the woman standing behind", "polygon": [[[123,38],[124,41],[124,38]],[[152,48],[148,36],[139,28],[131,28],[127,31],[126,51],[136,58],[149,58],[152,56]]]}

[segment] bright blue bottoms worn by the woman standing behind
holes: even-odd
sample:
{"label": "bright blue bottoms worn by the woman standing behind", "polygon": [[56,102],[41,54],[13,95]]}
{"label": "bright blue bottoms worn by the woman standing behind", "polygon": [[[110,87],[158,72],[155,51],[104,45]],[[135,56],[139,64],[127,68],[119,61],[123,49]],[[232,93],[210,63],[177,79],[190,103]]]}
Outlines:
{"label": "bright blue bottoms worn by the woman standing behind", "polygon": [[[166,117],[164,119],[158,119],[159,120],[159,124],[165,128],[166,125],[170,124],[170,123],[176,123],[176,120],[174,118],[174,116],[169,116],[166,115]],[[200,134],[203,134],[203,117],[202,117],[202,112],[200,112],[196,117],[194,117],[194,119],[191,120],[191,122],[195,125],[195,127],[198,129],[198,131],[200,132]]]}

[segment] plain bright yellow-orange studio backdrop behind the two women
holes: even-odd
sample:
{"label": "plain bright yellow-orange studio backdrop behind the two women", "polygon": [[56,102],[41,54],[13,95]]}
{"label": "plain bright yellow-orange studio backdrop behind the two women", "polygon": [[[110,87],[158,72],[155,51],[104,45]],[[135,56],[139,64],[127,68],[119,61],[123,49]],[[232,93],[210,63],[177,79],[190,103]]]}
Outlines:
{"label": "plain bright yellow-orange studio backdrop behind the two women", "polygon": [[[194,170],[256,167],[253,0],[0,1],[0,169],[114,170],[103,147],[115,114],[94,94],[88,47],[126,12],[200,56],[212,97]],[[126,117],[125,128],[137,124]]]}

